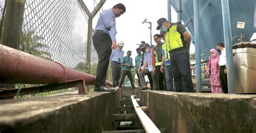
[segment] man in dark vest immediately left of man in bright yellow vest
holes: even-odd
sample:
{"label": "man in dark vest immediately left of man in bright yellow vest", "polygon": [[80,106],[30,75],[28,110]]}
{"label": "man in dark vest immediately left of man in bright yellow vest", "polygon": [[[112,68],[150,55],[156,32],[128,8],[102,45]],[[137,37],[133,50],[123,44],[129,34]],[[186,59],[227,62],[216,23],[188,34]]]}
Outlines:
{"label": "man in dark vest immediately left of man in bright yellow vest", "polygon": [[159,34],[155,34],[154,35],[154,42],[156,42],[157,44],[154,46],[154,57],[155,57],[155,61],[156,63],[154,63],[154,69],[155,69],[155,75],[156,75],[156,80],[157,80],[157,84],[159,84],[159,89],[161,91],[166,90],[166,83],[165,83],[165,75],[164,73],[162,73],[160,71],[161,68],[161,60],[162,60],[162,56],[163,56],[163,49],[162,49],[162,45],[163,42],[161,42],[161,38],[158,38]]}

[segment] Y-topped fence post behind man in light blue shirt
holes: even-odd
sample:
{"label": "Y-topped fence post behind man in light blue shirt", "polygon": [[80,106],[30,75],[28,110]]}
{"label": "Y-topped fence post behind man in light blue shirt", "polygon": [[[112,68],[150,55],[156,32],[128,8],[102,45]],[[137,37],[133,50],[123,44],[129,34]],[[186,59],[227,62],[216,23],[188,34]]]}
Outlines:
{"label": "Y-topped fence post behind man in light blue shirt", "polygon": [[90,12],[85,5],[83,0],[77,0],[81,5],[84,11],[86,12],[88,19],[88,33],[87,33],[87,53],[86,53],[86,70],[87,73],[90,74],[91,72],[91,45],[92,45],[92,19],[95,17],[96,13],[99,11],[100,8],[102,8],[103,4],[106,2],[106,0],[100,0],[100,2],[97,4],[96,8],[93,9],[92,12]]}

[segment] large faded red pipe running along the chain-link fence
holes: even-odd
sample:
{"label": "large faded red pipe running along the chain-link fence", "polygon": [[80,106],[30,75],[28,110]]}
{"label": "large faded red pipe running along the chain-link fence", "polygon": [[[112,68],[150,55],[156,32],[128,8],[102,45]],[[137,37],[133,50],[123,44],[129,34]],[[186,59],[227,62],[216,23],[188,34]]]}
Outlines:
{"label": "large faded red pipe running along the chain-link fence", "polygon": [[[4,45],[0,45],[0,63],[0,83],[52,84],[83,78],[86,85],[95,84],[93,75]],[[107,80],[105,84],[112,86]]]}

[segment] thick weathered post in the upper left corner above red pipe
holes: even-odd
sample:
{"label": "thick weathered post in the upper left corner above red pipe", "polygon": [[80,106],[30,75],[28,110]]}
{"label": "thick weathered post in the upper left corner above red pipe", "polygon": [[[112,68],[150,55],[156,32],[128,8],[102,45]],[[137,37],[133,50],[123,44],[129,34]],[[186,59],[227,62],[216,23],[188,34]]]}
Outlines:
{"label": "thick weathered post in the upper left corner above red pipe", "polygon": [[2,27],[2,45],[15,49],[18,48],[19,40],[21,39],[24,8],[25,0],[6,1]]}

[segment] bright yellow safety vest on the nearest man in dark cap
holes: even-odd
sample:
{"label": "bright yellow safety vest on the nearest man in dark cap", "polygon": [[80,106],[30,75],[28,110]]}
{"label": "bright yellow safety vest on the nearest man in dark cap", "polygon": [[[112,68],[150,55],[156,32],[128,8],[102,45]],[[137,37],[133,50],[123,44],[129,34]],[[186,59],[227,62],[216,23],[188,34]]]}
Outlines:
{"label": "bright yellow safety vest on the nearest man in dark cap", "polygon": [[166,32],[165,43],[168,46],[168,51],[184,47],[180,38],[181,34],[177,31],[177,24],[172,24],[169,28],[169,32]]}

